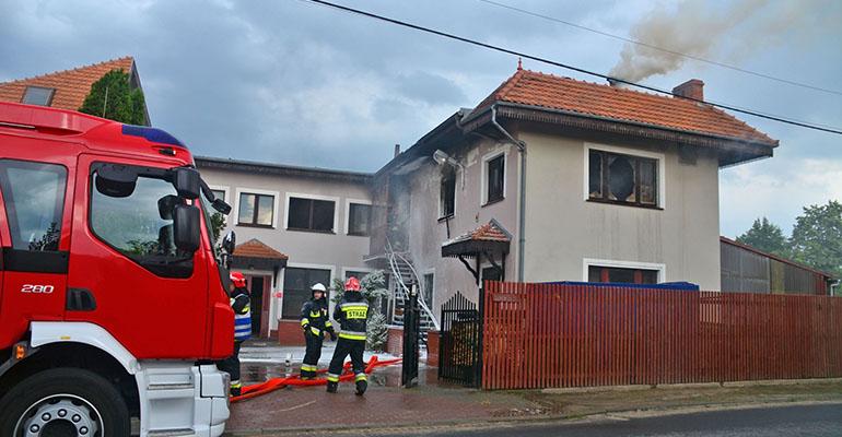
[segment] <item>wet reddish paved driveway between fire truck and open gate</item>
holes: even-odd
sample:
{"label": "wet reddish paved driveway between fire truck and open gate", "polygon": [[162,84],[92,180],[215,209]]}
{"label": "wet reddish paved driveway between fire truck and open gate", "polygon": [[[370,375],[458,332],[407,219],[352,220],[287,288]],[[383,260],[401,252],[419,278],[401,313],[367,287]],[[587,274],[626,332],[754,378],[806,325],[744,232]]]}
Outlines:
{"label": "wet reddish paved driveway between fire truck and open gate", "polygon": [[[284,371],[255,366],[249,368],[249,377]],[[364,397],[353,394],[351,382],[341,383],[336,394],[327,393],[324,386],[281,389],[232,404],[226,432],[247,435],[384,424],[430,425],[541,412],[534,402],[518,395],[438,383],[435,368],[424,369],[419,379],[419,387],[400,388],[400,366],[390,366],[372,373]]]}

